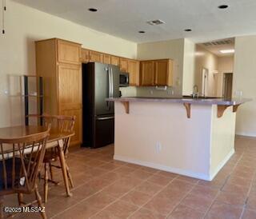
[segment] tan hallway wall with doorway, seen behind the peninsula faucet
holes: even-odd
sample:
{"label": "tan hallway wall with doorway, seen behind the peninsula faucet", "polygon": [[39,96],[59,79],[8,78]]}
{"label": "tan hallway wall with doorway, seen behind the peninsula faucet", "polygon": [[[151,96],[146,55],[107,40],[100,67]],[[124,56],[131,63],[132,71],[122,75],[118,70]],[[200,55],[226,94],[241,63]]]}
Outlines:
{"label": "tan hallway wall with doorway, seen behind the peninsula faucet", "polygon": [[209,70],[207,96],[215,96],[214,71],[218,70],[218,57],[201,46],[196,46],[194,82],[202,94],[202,68]]}

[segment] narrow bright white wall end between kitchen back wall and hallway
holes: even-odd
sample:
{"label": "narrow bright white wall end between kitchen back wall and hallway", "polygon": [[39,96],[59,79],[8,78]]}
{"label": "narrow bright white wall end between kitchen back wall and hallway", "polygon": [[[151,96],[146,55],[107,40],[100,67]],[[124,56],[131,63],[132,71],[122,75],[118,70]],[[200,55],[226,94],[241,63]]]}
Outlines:
{"label": "narrow bright white wall end between kitchen back wall and hallway", "polygon": [[195,44],[190,40],[184,40],[184,58],[183,58],[183,78],[182,94],[190,95],[193,93],[194,86],[194,62],[195,62]]}

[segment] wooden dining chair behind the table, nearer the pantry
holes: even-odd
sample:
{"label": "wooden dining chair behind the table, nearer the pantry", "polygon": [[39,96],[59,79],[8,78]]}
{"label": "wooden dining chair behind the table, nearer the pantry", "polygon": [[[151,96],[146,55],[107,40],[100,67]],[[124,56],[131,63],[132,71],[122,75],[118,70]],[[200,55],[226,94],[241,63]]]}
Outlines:
{"label": "wooden dining chair behind the table, nearer the pantry", "polygon": [[[58,129],[60,133],[67,132],[67,133],[73,133],[74,132],[74,122],[75,122],[75,116],[63,116],[63,115],[49,115],[49,114],[42,114],[42,116],[38,115],[30,115],[31,117],[38,117],[42,118],[44,125],[51,125],[52,128]],[[70,146],[70,137],[66,137],[62,139],[62,145],[63,145],[63,152],[65,157],[67,157],[68,154],[68,148]],[[58,142],[56,143],[56,147],[52,146],[50,149],[46,149],[46,154],[43,159],[44,163],[44,201],[47,202],[48,199],[48,182],[52,182],[55,185],[58,185],[58,181],[54,181],[54,174],[53,174],[53,167],[61,169],[61,166],[54,165],[54,161],[58,161]],[[50,173],[50,177],[49,177]],[[70,169],[68,165],[66,165],[66,173],[67,177],[70,183],[71,188],[74,188],[74,182],[71,177]]]}

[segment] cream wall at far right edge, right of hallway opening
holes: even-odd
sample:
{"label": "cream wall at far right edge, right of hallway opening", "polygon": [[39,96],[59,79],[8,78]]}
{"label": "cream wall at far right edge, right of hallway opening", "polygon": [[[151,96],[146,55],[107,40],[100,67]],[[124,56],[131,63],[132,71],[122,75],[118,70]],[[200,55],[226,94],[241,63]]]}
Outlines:
{"label": "cream wall at far right edge, right of hallway opening", "polygon": [[253,98],[239,106],[236,133],[256,137],[256,35],[235,38],[234,93],[242,91],[242,97]]}

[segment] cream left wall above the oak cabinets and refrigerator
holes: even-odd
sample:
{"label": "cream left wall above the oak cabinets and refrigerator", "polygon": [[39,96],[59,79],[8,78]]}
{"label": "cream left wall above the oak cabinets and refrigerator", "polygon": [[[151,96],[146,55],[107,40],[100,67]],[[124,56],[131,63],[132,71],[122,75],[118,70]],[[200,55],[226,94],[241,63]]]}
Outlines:
{"label": "cream left wall above the oak cabinets and refrigerator", "polygon": [[[92,50],[136,58],[137,44],[134,42],[79,26],[16,2],[7,0],[6,5],[6,34],[0,36],[0,127],[18,125],[24,120],[18,76],[35,74],[35,40],[63,38],[82,43]],[[10,98],[10,91],[18,97]]]}

